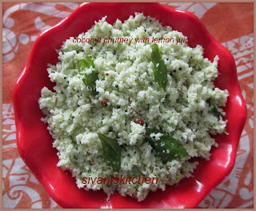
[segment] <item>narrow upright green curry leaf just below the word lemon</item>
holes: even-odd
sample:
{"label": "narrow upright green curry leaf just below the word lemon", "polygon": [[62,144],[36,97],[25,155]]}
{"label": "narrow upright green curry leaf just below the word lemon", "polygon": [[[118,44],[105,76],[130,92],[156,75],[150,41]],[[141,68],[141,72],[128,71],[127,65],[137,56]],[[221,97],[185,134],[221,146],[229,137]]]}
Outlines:
{"label": "narrow upright green curry leaf just below the word lemon", "polygon": [[167,85],[167,70],[166,63],[161,58],[159,48],[157,44],[153,44],[151,61],[154,64],[154,81],[158,83],[164,90],[166,90]]}

